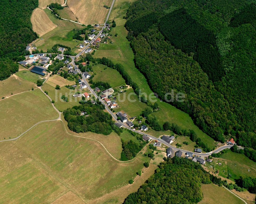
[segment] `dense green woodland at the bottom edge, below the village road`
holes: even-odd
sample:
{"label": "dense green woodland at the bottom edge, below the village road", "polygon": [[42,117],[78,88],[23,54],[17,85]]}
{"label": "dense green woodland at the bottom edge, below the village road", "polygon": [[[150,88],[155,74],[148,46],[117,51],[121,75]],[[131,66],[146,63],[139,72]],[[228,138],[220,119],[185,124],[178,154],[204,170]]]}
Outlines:
{"label": "dense green woodland at the bottom edge, below the village road", "polygon": [[124,204],[186,203],[202,200],[200,184],[221,183],[220,179],[206,173],[199,163],[174,157],[160,163],[155,173],[131,193]]}

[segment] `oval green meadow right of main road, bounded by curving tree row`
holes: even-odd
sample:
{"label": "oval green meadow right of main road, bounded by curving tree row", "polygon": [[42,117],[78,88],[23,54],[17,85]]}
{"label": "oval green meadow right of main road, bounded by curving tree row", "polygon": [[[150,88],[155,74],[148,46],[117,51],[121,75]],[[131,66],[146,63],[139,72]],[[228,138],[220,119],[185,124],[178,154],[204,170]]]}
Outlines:
{"label": "oval green meadow right of main road, bounded by curving tree row", "polygon": [[95,76],[93,77],[93,81],[95,82],[108,82],[111,87],[116,87],[125,83],[122,75],[115,69],[112,69],[102,64],[94,65],[92,66],[92,68],[93,72],[95,73]]}

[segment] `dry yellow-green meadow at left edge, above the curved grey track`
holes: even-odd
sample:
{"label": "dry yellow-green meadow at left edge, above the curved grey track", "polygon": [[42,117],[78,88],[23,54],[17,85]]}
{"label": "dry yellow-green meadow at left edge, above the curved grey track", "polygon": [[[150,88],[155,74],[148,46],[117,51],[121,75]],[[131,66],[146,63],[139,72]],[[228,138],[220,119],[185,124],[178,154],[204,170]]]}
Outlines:
{"label": "dry yellow-green meadow at left edge, above the curved grey track", "polygon": [[14,138],[37,122],[58,117],[49,99],[39,89],[2,100],[0,112],[1,140]]}

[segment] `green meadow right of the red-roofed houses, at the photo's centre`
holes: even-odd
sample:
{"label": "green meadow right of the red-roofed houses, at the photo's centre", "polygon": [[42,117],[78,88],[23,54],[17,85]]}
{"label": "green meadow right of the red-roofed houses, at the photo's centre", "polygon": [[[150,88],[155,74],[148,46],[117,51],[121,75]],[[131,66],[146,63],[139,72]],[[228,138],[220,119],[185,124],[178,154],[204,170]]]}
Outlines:
{"label": "green meadow right of the red-roofed houses, at the photo's centre", "polygon": [[121,93],[116,96],[116,102],[120,108],[116,108],[115,112],[124,111],[128,117],[135,117],[147,107],[147,104],[139,101],[137,95],[131,91]]}

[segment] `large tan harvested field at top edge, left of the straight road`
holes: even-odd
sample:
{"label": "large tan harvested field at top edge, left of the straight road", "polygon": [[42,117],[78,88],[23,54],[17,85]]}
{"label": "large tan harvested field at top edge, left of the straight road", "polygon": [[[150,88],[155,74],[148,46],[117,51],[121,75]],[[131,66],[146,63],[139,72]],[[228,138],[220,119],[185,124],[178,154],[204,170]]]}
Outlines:
{"label": "large tan harvested field at top edge, left of the straight road", "polygon": [[78,22],[86,25],[104,23],[109,9],[103,6],[111,6],[111,3],[111,0],[67,0],[67,5],[78,18]]}

